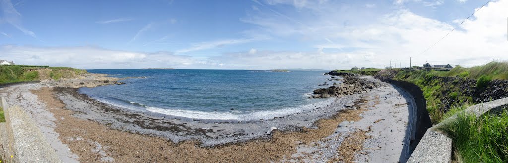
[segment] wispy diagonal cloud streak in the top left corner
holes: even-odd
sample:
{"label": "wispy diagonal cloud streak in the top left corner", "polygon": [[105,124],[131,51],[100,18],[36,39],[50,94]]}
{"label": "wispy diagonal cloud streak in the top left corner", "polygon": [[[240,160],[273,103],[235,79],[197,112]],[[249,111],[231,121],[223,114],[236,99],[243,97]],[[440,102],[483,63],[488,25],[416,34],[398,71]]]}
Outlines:
{"label": "wispy diagonal cloud streak in the top left corner", "polygon": [[24,34],[37,38],[36,34],[33,31],[28,30],[23,25],[21,25],[21,14],[14,8],[12,2],[10,0],[0,1],[0,4],[2,5],[2,12],[4,13],[4,21],[22,31]]}

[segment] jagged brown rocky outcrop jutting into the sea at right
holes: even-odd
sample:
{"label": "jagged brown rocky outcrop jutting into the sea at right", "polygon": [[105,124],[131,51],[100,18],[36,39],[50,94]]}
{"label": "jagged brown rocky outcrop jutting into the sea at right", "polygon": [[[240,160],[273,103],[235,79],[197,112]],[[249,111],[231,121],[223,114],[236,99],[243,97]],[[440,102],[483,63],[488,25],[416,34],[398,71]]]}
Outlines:
{"label": "jagged brown rocky outcrop jutting into the sea at right", "polygon": [[326,73],[329,75],[340,75],[343,77],[343,83],[338,86],[329,88],[321,88],[314,90],[311,98],[328,98],[328,97],[341,97],[346,95],[353,95],[362,93],[364,91],[372,90],[382,85],[379,81],[372,78],[362,78],[360,74],[344,73],[332,71]]}

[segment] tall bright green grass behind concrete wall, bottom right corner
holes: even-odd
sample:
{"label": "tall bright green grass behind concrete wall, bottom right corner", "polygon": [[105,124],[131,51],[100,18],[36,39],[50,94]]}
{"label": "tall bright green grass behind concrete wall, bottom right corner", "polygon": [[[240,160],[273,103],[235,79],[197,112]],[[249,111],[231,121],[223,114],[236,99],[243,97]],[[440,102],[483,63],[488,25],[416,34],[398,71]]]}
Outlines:
{"label": "tall bright green grass behind concrete wall, bottom right corner", "polygon": [[508,162],[508,111],[476,117],[463,111],[439,128],[453,141],[458,162]]}

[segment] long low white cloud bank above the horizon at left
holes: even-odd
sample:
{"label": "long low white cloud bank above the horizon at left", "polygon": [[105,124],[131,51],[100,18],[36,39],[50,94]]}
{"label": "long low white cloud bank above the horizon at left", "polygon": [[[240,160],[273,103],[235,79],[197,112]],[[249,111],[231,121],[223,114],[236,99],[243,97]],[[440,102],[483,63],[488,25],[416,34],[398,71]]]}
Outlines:
{"label": "long low white cloud bank above the horizon at left", "polygon": [[97,47],[0,47],[0,58],[17,64],[68,66],[76,68],[195,68],[214,66],[213,63],[175,55],[171,52],[139,53],[108,50]]}

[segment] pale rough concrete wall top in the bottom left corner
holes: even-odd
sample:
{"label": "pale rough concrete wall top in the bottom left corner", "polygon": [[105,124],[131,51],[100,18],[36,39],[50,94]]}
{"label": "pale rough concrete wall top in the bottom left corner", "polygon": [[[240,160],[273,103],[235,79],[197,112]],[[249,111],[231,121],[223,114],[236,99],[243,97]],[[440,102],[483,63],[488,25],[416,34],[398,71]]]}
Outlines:
{"label": "pale rough concrete wall top in the bottom left corner", "polygon": [[[26,111],[19,106],[9,106],[3,97],[2,107],[5,113],[5,134],[7,139],[2,146],[5,153],[10,153],[7,160],[10,162],[62,162],[56,155],[55,150],[46,141],[46,138],[28,116]],[[2,127],[2,126],[0,126]],[[6,158],[4,158],[6,159]]]}

